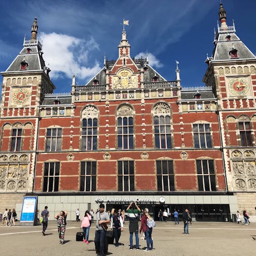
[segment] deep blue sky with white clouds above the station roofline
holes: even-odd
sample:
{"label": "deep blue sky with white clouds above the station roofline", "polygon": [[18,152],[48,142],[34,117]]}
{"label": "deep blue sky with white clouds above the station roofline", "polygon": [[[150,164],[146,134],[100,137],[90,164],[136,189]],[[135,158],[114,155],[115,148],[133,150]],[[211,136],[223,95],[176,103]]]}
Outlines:
{"label": "deep blue sky with white clouds above the station roofline", "polygon": [[[0,0],[0,70],[5,71],[31,37],[34,17],[44,59],[56,92],[71,90],[72,74],[83,85],[108,60],[118,57],[123,19],[131,56],[149,52],[150,65],[169,81],[175,80],[179,61],[181,85],[203,86],[206,54],[212,53],[219,0]],[[11,3],[11,4],[10,4]],[[222,0],[227,25],[256,53],[256,1]],[[4,8],[3,8],[4,6]]]}

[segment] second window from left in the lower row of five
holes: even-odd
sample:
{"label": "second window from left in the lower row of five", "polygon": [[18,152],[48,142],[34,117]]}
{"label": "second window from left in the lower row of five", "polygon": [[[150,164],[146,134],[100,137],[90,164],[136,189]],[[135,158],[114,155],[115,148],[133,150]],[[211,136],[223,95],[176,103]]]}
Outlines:
{"label": "second window from left in the lower row of five", "polygon": [[81,162],[80,191],[96,191],[96,162]]}

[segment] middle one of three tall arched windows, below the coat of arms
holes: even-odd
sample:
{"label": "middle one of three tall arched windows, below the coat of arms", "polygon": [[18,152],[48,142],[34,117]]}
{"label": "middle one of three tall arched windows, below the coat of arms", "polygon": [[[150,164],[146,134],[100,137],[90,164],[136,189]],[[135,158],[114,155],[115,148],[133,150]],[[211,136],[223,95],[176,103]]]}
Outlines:
{"label": "middle one of three tall arched windows, below the coat of arms", "polygon": [[122,105],[117,110],[117,145],[118,149],[133,149],[133,109]]}

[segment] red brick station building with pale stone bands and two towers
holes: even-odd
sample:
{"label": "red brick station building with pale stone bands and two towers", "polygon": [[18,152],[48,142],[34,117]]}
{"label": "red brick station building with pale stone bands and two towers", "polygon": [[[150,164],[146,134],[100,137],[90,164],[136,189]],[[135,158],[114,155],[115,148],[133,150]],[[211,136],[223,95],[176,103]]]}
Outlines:
{"label": "red brick station building with pale stone bands and two towers", "polygon": [[62,94],[35,19],[2,72],[0,193],[35,194],[40,209],[71,213],[137,200],[154,215],[189,206],[198,221],[229,221],[237,209],[255,216],[256,57],[222,4],[219,18],[206,87],[182,88],[178,65],[166,81],[147,56],[131,58],[123,30],[118,59],[84,86],[73,76]]}

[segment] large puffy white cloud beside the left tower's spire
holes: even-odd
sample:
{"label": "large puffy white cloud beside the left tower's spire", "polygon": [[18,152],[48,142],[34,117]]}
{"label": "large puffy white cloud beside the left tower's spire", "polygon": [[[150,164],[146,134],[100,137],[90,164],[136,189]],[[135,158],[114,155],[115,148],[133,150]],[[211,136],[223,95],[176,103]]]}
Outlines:
{"label": "large puffy white cloud beside the left tower's spire", "polygon": [[49,63],[52,78],[63,75],[70,78],[75,74],[79,79],[84,79],[101,69],[97,60],[90,59],[90,52],[99,49],[93,38],[84,40],[64,34],[41,33],[40,39],[44,60],[46,65]]}

